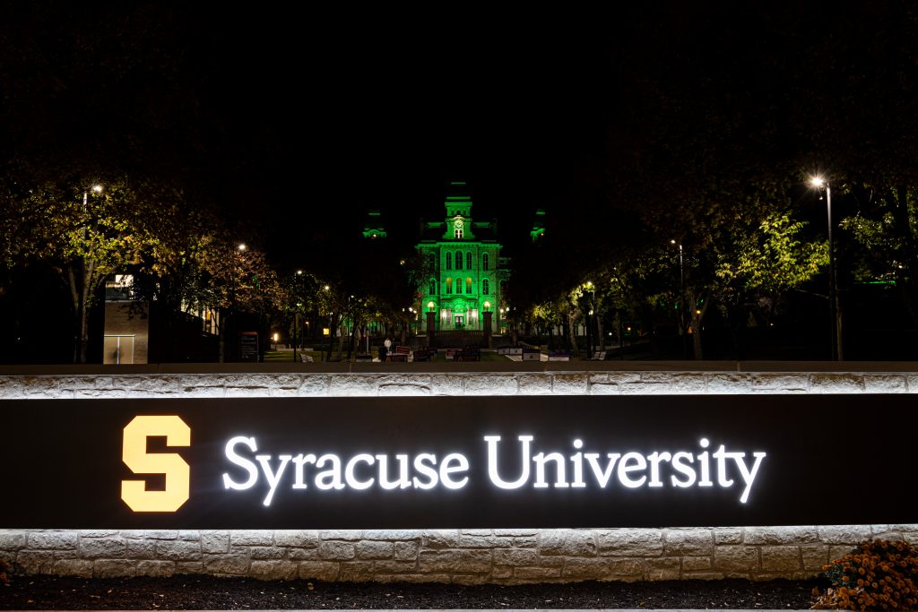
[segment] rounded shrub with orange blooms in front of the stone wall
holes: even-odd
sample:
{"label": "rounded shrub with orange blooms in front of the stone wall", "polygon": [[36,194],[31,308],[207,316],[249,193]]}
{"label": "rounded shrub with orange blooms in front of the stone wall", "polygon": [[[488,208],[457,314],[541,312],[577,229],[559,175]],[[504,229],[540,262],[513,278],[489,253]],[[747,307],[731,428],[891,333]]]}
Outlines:
{"label": "rounded shrub with orange blooms in front of the stone wall", "polygon": [[823,570],[832,586],[814,609],[910,610],[918,605],[918,550],[905,542],[862,542]]}

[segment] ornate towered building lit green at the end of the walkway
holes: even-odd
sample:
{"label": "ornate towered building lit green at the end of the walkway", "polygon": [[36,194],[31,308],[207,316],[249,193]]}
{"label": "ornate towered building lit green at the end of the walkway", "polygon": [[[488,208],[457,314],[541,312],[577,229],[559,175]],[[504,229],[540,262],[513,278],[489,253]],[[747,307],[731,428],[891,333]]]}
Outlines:
{"label": "ornate towered building lit green at the end of the walkway", "polygon": [[490,318],[491,331],[500,333],[508,269],[497,222],[473,220],[464,182],[449,184],[443,206],[442,221],[422,223],[417,247],[427,276],[418,288],[421,330],[431,322],[437,330],[484,330]]}

